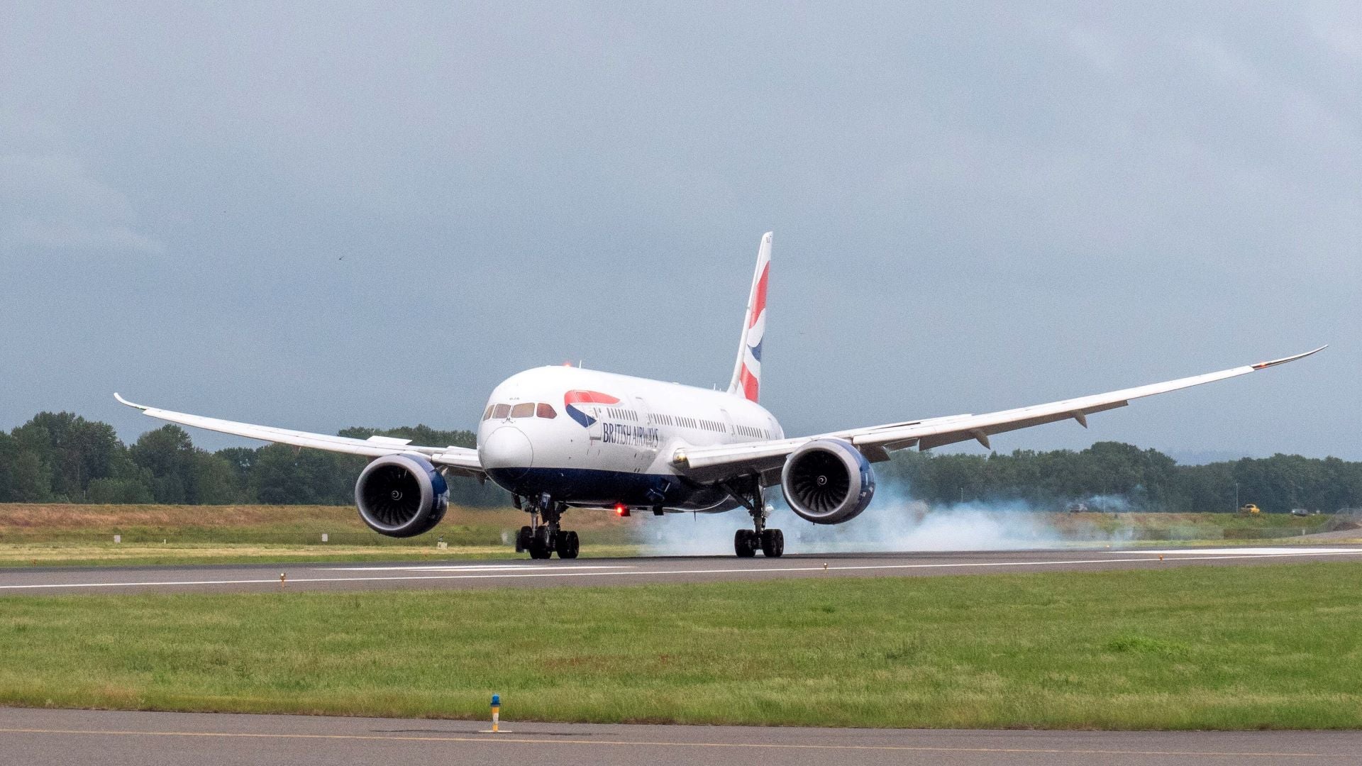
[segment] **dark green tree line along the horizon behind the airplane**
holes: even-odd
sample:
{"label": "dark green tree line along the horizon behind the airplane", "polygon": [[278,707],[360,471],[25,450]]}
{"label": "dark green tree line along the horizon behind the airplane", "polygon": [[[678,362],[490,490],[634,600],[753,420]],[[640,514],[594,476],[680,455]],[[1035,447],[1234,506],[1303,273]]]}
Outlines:
{"label": "dark green tree line along the horizon behind the airplane", "polygon": [[[417,444],[474,447],[471,431],[346,428],[340,436],[373,435]],[[113,427],[72,413],[38,413],[0,432],[0,502],[170,504],[349,504],[365,458],[283,444],[193,446],[178,425],[147,431],[132,444]],[[1086,450],[989,455],[903,450],[876,465],[883,489],[933,504],[1022,500],[1056,508],[1086,502],[1092,510],[1233,511],[1256,503],[1264,511],[1335,511],[1362,507],[1362,462],[1272,455],[1207,465],[1178,465],[1158,450],[1098,442]],[[881,489],[881,491],[883,491]],[[449,500],[504,506],[493,484],[455,478]]]}

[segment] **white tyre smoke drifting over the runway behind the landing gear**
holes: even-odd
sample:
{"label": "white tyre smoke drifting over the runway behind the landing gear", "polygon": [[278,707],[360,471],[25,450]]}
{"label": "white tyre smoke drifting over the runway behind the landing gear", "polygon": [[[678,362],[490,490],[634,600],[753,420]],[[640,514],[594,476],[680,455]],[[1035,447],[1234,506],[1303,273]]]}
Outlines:
{"label": "white tyre smoke drifting over the runway behind the landing gear", "polygon": [[[772,492],[779,497],[779,491]],[[785,532],[787,553],[1017,551],[1064,542],[1045,517],[1022,502],[928,506],[881,487],[870,507],[839,525],[816,525],[778,504],[767,526]],[[733,533],[752,526],[744,510],[726,514],[646,517],[637,540],[648,555],[733,553]]]}

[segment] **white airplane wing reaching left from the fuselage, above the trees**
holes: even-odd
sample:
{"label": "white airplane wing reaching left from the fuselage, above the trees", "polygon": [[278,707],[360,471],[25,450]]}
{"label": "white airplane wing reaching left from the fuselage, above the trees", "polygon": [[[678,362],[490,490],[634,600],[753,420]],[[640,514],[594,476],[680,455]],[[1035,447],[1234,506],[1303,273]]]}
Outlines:
{"label": "white airplane wing reaching left from the fuselage, above the trees", "polygon": [[188,414],[183,412],[148,408],[146,405],[129,402],[118,394],[114,394],[113,397],[129,408],[142,410],[143,414],[161,420],[169,420],[170,423],[178,423],[181,425],[192,425],[207,431],[218,431],[221,433],[234,433],[248,439],[274,442],[276,444],[311,447],[313,450],[345,453],[347,455],[364,455],[368,458],[396,455],[402,453],[419,453],[433,465],[444,466],[451,469],[454,473],[478,478],[485,476],[482,463],[478,462],[478,451],[467,447],[421,447],[411,444],[409,439],[394,439],[391,436],[351,439],[349,436],[332,436],[328,433],[309,433],[306,431],[290,431],[287,428],[275,428],[272,425],[255,425],[251,423],[236,423],[233,420],[218,420],[215,417],[204,417],[202,414]]}

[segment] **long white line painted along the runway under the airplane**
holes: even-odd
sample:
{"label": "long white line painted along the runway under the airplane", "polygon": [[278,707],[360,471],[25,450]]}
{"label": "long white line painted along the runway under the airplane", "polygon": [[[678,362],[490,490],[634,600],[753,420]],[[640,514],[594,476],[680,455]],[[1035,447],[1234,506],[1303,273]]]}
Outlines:
{"label": "long white line painted along the runway under the airplane", "polygon": [[[1201,560],[1216,560],[1223,562],[1229,559],[1273,559],[1273,557],[1291,557],[1291,556],[1321,556],[1321,555],[1359,555],[1362,549],[1329,549],[1328,553],[1308,553],[1308,552],[1290,552],[1290,553],[1254,553],[1254,555],[1226,555],[1226,556],[1175,556],[1170,557],[1169,562],[1201,562]],[[763,572],[817,572],[817,571],[888,571],[888,570],[930,570],[930,568],[982,568],[982,567],[1060,567],[1071,564],[1120,564],[1120,563],[1144,563],[1160,566],[1166,562],[1155,557],[1154,553],[1144,553],[1140,557],[1132,559],[1060,559],[1060,560],[1045,560],[1045,562],[959,562],[959,563],[938,563],[938,564],[853,564],[853,566],[831,566],[824,568],[821,564],[808,566],[808,567],[750,567],[750,568],[716,568],[716,570],[632,570],[632,571],[571,571],[579,567],[563,567],[561,570],[550,571],[516,571],[516,572],[493,572],[493,574],[440,574],[440,575],[395,575],[395,577],[315,577],[315,578],[294,578],[289,582],[402,582],[402,581],[426,581],[426,579],[516,579],[516,578],[552,578],[552,577],[613,577],[613,575],[637,575],[637,577],[659,577],[659,575],[699,575],[699,574],[763,574]],[[526,567],[530,570],[531,567]],[[537,568],[535,568],[537,570]],[[161,581],[161,582],[50,582],[50,583],[33,583],[33,585],[0,585],[0,590],[38,590],[38,589],[54,589],[54,587],[154,587],[154,586],[189,586],[189,585],[275,585],[279,581],[275,578],[252,578],[252,579],[191,579],[191,581]]]}

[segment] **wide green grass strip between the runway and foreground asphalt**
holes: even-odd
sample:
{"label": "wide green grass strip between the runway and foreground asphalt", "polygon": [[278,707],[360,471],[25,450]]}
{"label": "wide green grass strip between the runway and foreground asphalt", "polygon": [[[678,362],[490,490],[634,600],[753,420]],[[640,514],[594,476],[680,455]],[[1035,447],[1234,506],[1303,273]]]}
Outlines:
{"label": "wide green grass strip between the runway and foreground asphalt", "polygon": [[0,598],[0,703],[511,720],[1362,728],[1362,563]]}

